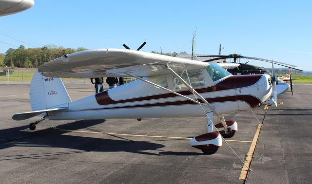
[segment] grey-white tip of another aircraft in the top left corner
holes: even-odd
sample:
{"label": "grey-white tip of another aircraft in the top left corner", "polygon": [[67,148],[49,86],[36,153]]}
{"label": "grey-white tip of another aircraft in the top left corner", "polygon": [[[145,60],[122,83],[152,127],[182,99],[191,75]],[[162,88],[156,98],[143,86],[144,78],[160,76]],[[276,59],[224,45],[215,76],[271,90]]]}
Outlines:
{"label": "grey-white tip of another aircraft in the top left corner", "polygon": [[7,16],[31,8],[34,0],[0,0],[0,16]]}

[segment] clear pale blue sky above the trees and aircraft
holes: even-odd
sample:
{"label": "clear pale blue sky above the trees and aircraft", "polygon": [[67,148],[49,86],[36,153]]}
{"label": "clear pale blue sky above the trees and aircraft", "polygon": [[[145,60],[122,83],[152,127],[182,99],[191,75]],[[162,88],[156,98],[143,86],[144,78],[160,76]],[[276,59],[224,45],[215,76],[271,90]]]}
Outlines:
{"label": "clear pale blue sky above the trees and aircraft", "polygon": [[[312,1],[309,0],[35,0],[0,17],[0,41],[41,47],[123,48],[196,54],[241,54],[312,71]],[[15,46],[0,42],[0,53]],[[248,60],[241,60],[247,62]],[[263,62],[251,62],[269,67]]]}

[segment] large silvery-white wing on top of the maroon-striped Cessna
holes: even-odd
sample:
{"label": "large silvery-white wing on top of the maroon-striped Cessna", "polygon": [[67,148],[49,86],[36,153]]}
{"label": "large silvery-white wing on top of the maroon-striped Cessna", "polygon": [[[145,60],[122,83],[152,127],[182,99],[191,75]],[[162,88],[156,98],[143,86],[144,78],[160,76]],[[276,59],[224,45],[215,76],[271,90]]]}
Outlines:
{"label": "large silvery-white wing on top of the maroon-striped Cessna", "polygon": [[202,69],[209,63],[190,59],[158,55],[126,49],[94,49],[62,55],[41,65],[40,73],[48,77],[103,77],[128,76],[139,77],[171,74],[165,65],[176,72]]}

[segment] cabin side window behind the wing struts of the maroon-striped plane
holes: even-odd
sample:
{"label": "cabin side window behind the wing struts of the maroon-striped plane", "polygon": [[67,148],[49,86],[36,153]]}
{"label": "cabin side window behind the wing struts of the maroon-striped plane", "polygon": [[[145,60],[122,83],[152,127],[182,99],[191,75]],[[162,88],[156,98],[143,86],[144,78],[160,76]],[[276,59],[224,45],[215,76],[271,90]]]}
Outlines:
{"label": "cabin side window behind the wing struts of the maroon-striped plane", "polygon": [[[201,71],[189,73],[189,77],[190,77],[191,86],[193,88],[205,86],[204,77]],[[183,78],[187,83],[189,83],[189,80],[186,74],[183,74],[181,78]],[[176,84],[176,89],[187,89],[187,86],[183,84],[180,80],[178,80],[176,76],[174,76],[174,83]]]}

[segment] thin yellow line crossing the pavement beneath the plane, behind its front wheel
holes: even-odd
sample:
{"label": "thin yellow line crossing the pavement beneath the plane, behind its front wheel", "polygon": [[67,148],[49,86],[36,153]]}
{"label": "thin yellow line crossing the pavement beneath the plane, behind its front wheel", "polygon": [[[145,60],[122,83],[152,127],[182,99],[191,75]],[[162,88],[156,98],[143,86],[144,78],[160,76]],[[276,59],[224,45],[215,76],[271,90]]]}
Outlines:
{"label": "thin yellow line crossing the pavement beneath the plane, behind its front wheel", "polygon": [[[169,139],[192,139],[192,138],[189,138],[189,137],[168,137],[168,136],[156,136],[156,135],[135,135],[135,134],[107,133],[107,132],[97,132],[97,131],[68,130],[68,129],[59,129],[59,130],[79,132],[79,133],[97,133],[97,134],[107,134],[107,135],[136,136],[136,137],[156,137],[156,138],[169,138]],[[227,141],[252,143],[252,141],[238,141],[238,140],[227,140]]]}

